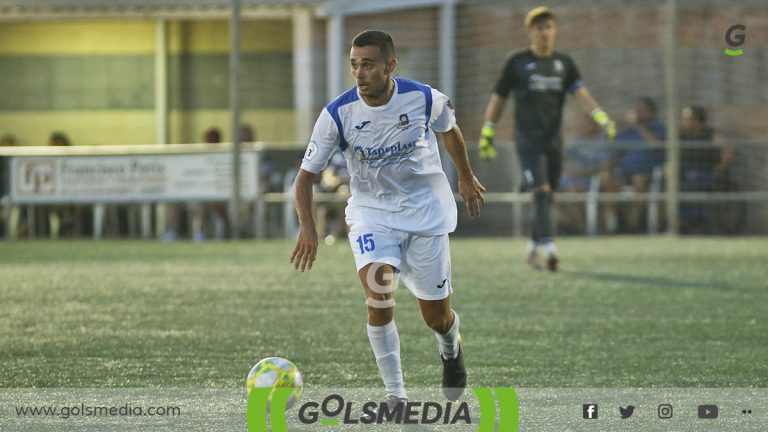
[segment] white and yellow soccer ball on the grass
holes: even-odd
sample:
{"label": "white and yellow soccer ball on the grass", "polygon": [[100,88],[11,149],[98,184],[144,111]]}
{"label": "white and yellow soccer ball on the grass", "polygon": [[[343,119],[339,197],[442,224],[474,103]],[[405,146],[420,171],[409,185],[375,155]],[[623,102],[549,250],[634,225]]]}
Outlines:
{"label": "white and yellow soccer ball on the grass", "polygon": [[[281,357],[268,357],[256,363],[248,372],[246,389],[248,394],[254,388],[293,388],[286,409],[293,406],[304,390],[304,380],[295,364]],[[272,401],[272,395],[269,396]]]}

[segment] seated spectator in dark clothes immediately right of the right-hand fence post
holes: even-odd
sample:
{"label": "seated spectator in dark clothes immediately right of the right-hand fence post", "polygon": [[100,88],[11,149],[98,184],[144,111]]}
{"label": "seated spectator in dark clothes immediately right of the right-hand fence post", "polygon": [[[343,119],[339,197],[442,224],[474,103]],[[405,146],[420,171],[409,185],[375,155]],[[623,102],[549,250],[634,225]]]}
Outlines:
{"label": "seated spectator in dark clothes immediately right of the right-hand fence post", "polygon": [[[722,140],[707,124],[707,110],[687,106],[680,113],[680,189],[683,192],[715,192],[730,189],[729,168],[733,148],[722,148]],[[706,203],[680,205],[680,232],[711,232],[713,206]]]}

